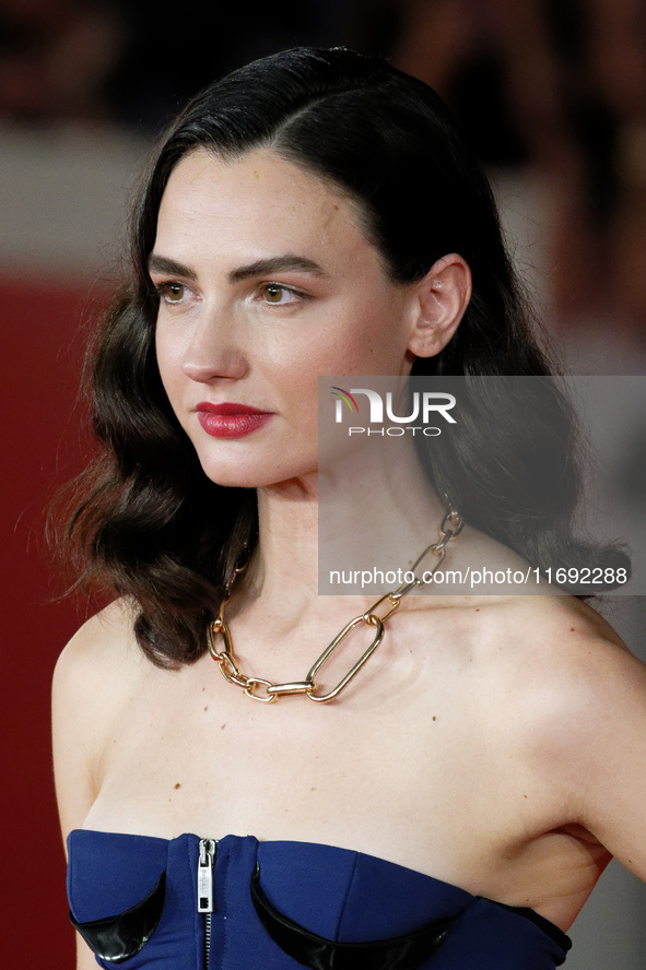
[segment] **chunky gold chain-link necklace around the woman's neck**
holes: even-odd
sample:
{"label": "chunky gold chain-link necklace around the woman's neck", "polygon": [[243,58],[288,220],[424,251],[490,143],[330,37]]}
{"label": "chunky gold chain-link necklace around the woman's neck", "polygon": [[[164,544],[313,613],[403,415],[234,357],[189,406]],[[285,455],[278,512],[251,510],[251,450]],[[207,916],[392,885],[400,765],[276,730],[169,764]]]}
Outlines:
{"label": "chunky gold chain-link necklace around the woman's neck", "polygon": [[[420,563],[426,558],[427,555],[436,556],[437,563],[431,570],[431,577],[435,576],[437,570],[441,568],[444,559],[446,557],[446,545],[453,539],[456,539],[462,531],[463,521],[460,518],[458,511],[454,508],[450,508],[442,523],[439,525],[438,542],[433,542],[431,545],[426,546],[421,556],[419,556],[410,570],[407,570],[413,573],[413,579],[410,582],[403,582],[396,590],[392,590],[390,593],[384,593],[383,596],[373,603],[372,606],[366,610],[365,613],[360,614],[360,616],[355,616],[354,619],[351,619],[348,623],[340,634],[337,634],[331,643],[326,647],[321,655],[318,658],[316,663],[309,669],[307,676],[304,681],[294,681],[290,684],[272,684],[271,681],[265,681],[262,677],[248,677],[246,674],[243,674],[240,669],[235,662],[234,652],[233,652],[233,639],[231,636],[231,630],[224,619],[224,611],[226,608],[226,604],[228,603],[234,583],[238,576],[240,576],[245,569],[247,568],[247,563],[243,566],[236,567],[225,587],[224,599],[220,606],[220,612],[213,623],[209,624],[209,652],[213,660],[220,666],[220,673],[222,676],[228,681],[230,684],[235,684],[236,687],[242,687],[247,697],[250,697],[252,700],[261,700],[263,703],[271,703],[273,700],[277,700],[279,697],[294,697],[298,694],[304,694],[305,697],[308,697],[309,700],[316,700],[318,703],[327,703],[330,700],[334,700],[336,697],[339,697],[342,690],[350,684],[353,677],[360,672],[362,666],[366,663],[367,660],[373,655],[381,640],[384,639],[384,624],[386,620],[390,619],[396,610],[399,610],[401,601],[404,596],[408,596],[412,590],[416,589],[416,587],[422,585],[424,580],[419,579],[415,575],[415,570],[418,569]],[[247,560],[248,561],[248,560]],[[426,580],[431,581],[431,580]],[[388,601],[388,605],[386,607],[386,612],[379,616],[377,614],[377,610],[379,606]],[[353,667],[342,677],[341,681],[337,684],[332,690],[329,690],[327,694],[317,694],[316,693],[316,681],[314,679],[317,673],[320,671],[325,662],[331,656],[337,647],[345,639],[345,637],[352,632],[352,630],[357,627],[360,624],[365,624],[366,626],[374,627],[376,632],[373,639],[373,642],[367,648],[365,653],[356,661]],[[218,651],[215,648],[215,637],[221,636],[224,641],[224,649]]]}

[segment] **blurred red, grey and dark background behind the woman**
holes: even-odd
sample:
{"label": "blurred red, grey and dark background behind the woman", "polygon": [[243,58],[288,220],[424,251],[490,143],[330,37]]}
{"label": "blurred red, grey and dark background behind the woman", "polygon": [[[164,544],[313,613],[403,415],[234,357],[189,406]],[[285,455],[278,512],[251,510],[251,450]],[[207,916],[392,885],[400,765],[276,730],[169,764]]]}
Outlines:
{"label": "blurred red, grey and dark background behind the woman", "polygon": [[[87,327],[118,280],[138,171],[191,94],[297,44],[390,58],[432,84],[470,133],[565,369],[646,372],[643,0],[263,8],[0,0],[2,923],[3,953],[16,968],[74,962],[49,683],[60,649],[94,606],[52,602],[61,584],[44,546],[45,509],[87,454],[79,375]],[[638,428],[626,442],[637,464],[642,456],[642,474],[644,439]],[[601,608],[646,659],[643,600]],[[611,865],[572,930],[567,967],[643,968],[645,915],[646,887]]]}

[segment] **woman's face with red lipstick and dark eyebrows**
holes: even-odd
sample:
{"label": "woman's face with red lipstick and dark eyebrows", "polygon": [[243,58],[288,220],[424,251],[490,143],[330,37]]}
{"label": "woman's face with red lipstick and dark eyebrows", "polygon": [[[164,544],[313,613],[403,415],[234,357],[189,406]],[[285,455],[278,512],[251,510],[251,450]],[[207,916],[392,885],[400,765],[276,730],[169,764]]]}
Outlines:
{"label": "woman's face with red lipstick and dark eyebrows", "polygon": [[410,370],[412,287],[388,279],[351,201],[270,151],[183,158],[150,273],[166,393],[222,485],[316,472],[319,376]]}

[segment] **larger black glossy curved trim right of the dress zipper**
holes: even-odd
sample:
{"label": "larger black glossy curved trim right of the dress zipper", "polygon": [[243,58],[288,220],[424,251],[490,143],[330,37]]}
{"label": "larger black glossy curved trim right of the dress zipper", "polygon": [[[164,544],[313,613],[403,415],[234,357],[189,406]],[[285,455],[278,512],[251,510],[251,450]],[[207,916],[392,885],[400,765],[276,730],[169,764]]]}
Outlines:
{"label": "larger black glossy curved trim right of the dress zipper", "polygon": [[260,866],[251,876],[258,919],[289,957],[310,970],[418,970],[441,945],[457,918],[441,920],[407,936],[369,943],[338,943],[310,933],[279,912],[260,887]]}

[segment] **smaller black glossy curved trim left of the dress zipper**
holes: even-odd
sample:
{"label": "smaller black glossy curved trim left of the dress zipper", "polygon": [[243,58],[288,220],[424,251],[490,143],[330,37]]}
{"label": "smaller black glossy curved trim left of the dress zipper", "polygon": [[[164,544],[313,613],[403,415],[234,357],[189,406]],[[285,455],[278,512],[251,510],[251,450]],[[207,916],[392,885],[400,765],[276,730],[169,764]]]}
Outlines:
{"label": "smaller black glossy curved trim left of the dress zipper", "polygon": [[122,913],[80,923],[70,911],[70,922],[99,960],[122,963],[143,949],[157,928],[164,909],[165,890],[164,870],[153,891]]}

